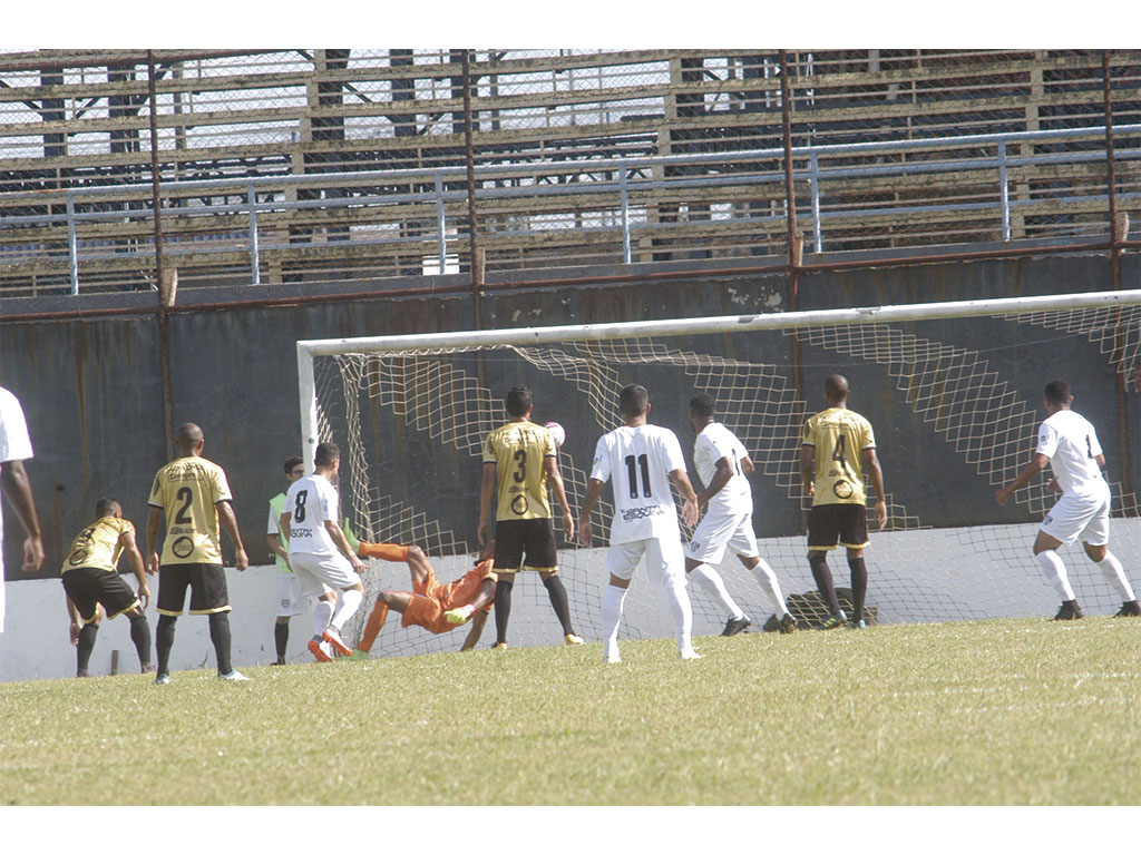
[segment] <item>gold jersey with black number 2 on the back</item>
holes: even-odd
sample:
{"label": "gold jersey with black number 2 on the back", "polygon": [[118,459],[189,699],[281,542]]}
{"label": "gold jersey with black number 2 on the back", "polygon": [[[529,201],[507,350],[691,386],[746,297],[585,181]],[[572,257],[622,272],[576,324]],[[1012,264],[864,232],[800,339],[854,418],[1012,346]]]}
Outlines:
{"label": "gold jersey with black number 2 on the back", "polygon": [[154,477],[147,504],[167,514],[162,564],[220,564],[218,502],[230,502],[226,473],[205,457],[179,457]]}

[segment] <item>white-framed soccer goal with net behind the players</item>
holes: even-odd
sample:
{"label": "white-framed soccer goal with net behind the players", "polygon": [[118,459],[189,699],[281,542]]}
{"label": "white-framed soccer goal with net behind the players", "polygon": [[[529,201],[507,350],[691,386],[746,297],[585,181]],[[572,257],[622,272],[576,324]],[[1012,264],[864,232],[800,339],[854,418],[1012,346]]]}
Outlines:
{"label": "white-framed soccer goal with net behind the players", "polygon": [[[751,481],[761,552],[794,613],[811,614],[800,430],[825,406],[824,378],[843,374],[852,390],[849,406],[875,429],[888,491],[887,527],[872,529],[865,553],[872,618],[1049,616],[1055,595],[1030,554],[1053,503],[1046,479],[1004,507],[995,489],[1030,458],[1045,417],[1043,386],[1068,380],[1074,408],[1095,424],[1106,449],[1115,497],[1111,547],[1141,587],[1141,521],[1130,477],[1136,461],[1122,459],[1141,427],[1139,348],[1141,291],[302,341],[301,429],[310,456],[318,441],[340,446],[342,506],[362,537],[420,544],[447,581],[471,565],[478,548],[482,443],[505,421],[508,389],[529,386],[534,420],[565,426],[559,459],[575,513],[594,443],[620,424],[624,384],[649,390],[650,421],[678,434],[687,458],[694,440],[688,402],[709,393],[718,421],[756,465]],[[1124,397],[1117,375],[1125,378]],[[693,467],[689,473],[699,484]],[[608,491],[593,518],[594,548],[566,542],[556,520],[560,573],[575,628],[588,640],[600,633]],[[1066,548],[1062,557],[1086,613],[1118,608],[1081,547]],[[843,596],[842,551],[830,563]],[[731,555],[720,571],[752,628],[763,628],[774,608],[754,579]],[[667,611],[642,572],[626,600],[623,633],[670,637]],[[406,589],[407,570],[373,561],[366,585],[371,603],[381,588]],[[694,634],[719,633],[727,616],[703,591],[689,591]],[[347,634],[359,632],[366,612]],[[432,636],[390,620],[374,654],[456,649],[463,632]],[[491,626],[487,633],[480,646],[494,642]],[[518,645],[561,642],[547,592],[527,573],[516,579],[510,638]]]}

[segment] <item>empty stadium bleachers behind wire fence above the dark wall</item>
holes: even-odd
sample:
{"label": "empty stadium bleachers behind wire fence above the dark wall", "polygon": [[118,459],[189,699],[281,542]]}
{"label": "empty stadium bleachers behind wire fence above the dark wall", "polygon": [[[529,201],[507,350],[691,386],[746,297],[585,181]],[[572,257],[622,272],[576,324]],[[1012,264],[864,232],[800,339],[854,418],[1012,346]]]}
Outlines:
{"label": "empty stadium bleachers behind wire fence above the dark wall", "polygon": [[1139,244],[1141,51],[33,51],[0,82],[6,296]]}

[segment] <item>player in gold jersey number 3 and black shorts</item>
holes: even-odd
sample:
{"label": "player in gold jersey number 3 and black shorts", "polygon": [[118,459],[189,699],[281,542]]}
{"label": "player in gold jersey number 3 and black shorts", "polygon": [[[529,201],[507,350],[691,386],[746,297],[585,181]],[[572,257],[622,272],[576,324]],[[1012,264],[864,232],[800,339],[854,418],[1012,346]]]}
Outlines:
{"label": "player in gold jersey number 3 and black shorts", "polygon": [[[567,644],[583,640],[570,624],[567,592],[558,577],[558,546],[550,483],[563,511],[563,532],[574,539],[574,518],[559,473],[558,449],[547,427],[531,421],[532,397],[526,386],[513,386],[504,400],[509,421],[484,441],[484,475],[479,487],[479,544],[491,534],[492,491],[499,487],[495,513],[495,646],[507,646],[507,624],[511,616],[511,588],[516,571],[537,570],[551,605],[563,625]],[[526,559],[524,559],[526,553]]]}

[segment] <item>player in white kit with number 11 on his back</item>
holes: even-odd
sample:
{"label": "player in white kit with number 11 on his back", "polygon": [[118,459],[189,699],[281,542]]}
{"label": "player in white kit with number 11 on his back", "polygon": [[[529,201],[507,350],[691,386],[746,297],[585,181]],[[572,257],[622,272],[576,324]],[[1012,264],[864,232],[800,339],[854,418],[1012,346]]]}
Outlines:
{"label": "player in white kit with number 11 on his back", "polygon": [[666,427],[646,423],[648,398],[640,385],[622,389],[618,412],[625,424],[598,440],[578,515],[578,542],[590,546],[590,512],[602,487],[613,478],[614,520],[606,555],[610,584],[602,596],[602,653],[607,662],[622,661],[617,643],[622,604],[644,554],[650,585],[663,589],[669,601],[679,654],[682,659],[701,658],[690,637],[693,612],[686,594],[681,531],[670,483],[681,491],[685,500],[681,516],[687,526],[697,521],[697,496],[686,475],[678,437]]}

